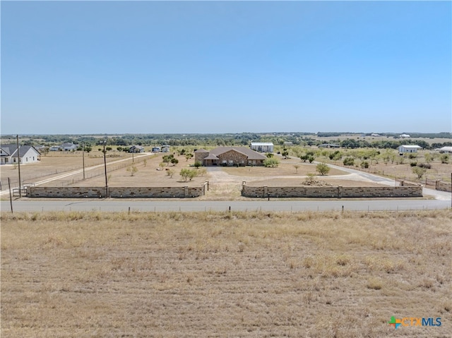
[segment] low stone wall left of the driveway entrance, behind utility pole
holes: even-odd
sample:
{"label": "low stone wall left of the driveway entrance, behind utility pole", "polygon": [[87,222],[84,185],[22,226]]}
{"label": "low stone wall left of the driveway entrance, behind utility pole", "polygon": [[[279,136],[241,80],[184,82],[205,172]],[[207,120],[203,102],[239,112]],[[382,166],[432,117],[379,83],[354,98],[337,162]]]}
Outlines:
{"label": "low stone wall left of the driveway entrance, behind utility pole", "polygon": [[[173,187],[110,187],[111,198],[193,198],[206,194],[206,184],[201,186]],[[105,198],[104,187],[27,187],[27,197],[32,198]]]}

